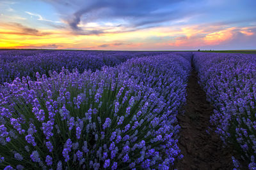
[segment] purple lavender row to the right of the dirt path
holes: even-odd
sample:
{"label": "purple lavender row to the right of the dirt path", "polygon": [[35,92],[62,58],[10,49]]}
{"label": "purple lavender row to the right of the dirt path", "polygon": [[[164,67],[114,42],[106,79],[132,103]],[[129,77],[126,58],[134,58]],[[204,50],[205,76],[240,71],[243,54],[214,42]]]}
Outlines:
{"label": "purple lavender row to the right of the dirt path", "polygon": [[[225,144],[236,146],[248,169],[256,169],[256,55],[195,53],[193,60],[215,109],[211,124]],[[238,160],[232,159],[238,168]]]}

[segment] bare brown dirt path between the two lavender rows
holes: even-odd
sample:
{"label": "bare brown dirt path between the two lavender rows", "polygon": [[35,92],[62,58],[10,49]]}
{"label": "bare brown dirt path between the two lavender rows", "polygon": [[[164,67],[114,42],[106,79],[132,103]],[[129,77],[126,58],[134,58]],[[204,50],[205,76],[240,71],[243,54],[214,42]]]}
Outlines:
{"label": "bare brown dirt path between the two lavender rows", "polygon": [[222,147],[222,141],[215,132],[207,134],[212,106],[206,101],[204,90],[198,84],[195,70],[191,72],[187,87],[185,114],[179,115],[179,147],[184,158],[178,162],[178,169],[232,169],[232,153]]}

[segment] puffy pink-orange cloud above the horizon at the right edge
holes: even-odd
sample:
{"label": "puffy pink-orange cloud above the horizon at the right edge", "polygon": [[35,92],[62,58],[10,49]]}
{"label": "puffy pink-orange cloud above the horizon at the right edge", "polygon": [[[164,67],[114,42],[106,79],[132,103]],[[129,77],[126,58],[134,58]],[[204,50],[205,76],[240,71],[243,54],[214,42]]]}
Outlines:
{"label": "puffy pink-orange cloud above the horizon at the right edge", "polygon": [[[198,27],[191,27],[189,32],[187,29],[184,34],[186,36],[177,36],[173,41],[170,41],[168,45],[180,48],[204,48],[204,49],[253,49],[253,41],[256,38],[256,26],[255,27],[218,27],[208,25],[204,29]],[[194,34],[195,33],[195,34]]]}

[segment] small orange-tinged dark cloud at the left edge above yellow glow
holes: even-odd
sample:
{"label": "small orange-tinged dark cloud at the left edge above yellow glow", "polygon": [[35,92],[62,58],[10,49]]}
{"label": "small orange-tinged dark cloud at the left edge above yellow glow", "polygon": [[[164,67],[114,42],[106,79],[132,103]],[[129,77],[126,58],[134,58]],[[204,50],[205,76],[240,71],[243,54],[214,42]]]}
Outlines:
{"label": "small orange-tinged dark cloud at the left edge above yellow glow", "polygon": [[1,31],[1,34],[17,34],[17,35],[29,35],[29,36],[46,36],[51,32],[40,32],[37,29],[24,26],[17,22],[1,23],[0,27],[3,27],[8,31]]}

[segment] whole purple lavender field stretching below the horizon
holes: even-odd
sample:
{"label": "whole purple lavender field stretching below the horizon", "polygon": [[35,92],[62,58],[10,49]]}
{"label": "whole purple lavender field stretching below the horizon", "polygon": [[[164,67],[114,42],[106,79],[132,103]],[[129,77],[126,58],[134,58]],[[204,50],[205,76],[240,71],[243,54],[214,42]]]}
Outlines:
{"label": "whole purple lavender field stretching below the horizon", "polygon": [[0,169],[256,169],[255,106],[255,54],[1,50]]}

